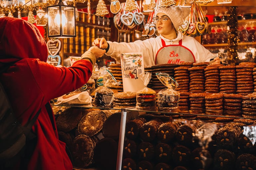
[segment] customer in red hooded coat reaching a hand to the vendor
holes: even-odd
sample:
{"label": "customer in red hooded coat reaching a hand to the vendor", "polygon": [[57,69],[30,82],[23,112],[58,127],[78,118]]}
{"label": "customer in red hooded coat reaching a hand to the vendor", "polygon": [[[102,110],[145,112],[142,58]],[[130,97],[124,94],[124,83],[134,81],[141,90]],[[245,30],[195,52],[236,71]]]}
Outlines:
{"label": "customer in red hooded coat reaching a hand to the vendor", "polygon": [[22,19],[0,18],[0,69],[5,63],[16,62],[0,75],[13,111],[24,125],[42,108],[32,127],[37,140],[31,158],[26,168],[19,161],[14,169],[72,170],[65,143],[58,139],[49,101],[84,85],[96,58],[104,53],[91,47],[71,67],[55,67],[46,63],[46,42],[34,25]]}

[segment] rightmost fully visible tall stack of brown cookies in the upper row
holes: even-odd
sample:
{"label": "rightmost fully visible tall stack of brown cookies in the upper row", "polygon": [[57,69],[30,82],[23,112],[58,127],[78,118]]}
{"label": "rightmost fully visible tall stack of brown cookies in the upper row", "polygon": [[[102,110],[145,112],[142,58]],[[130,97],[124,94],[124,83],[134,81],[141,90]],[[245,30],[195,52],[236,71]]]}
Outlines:
{"label": "rightmost fully visible tall stack of brown cookies in the upper row", "polygon": [[247,95],[254,91],[253,65],[236,65],[236,93]]}

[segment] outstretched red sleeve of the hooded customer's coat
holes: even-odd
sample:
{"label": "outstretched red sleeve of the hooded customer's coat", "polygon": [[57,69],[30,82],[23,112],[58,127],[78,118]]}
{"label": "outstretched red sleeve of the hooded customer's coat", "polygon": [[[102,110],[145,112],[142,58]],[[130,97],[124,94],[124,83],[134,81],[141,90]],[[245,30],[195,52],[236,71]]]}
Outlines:
{"label": "outstretched red sleeve of the hooded customer's coat", "polygon": [[92,74],[92,64],[78,60],[71,67],[55,67],[51,64],[28,61],[35,81],[45,95],[45,102],[60,97],[84,85]]}

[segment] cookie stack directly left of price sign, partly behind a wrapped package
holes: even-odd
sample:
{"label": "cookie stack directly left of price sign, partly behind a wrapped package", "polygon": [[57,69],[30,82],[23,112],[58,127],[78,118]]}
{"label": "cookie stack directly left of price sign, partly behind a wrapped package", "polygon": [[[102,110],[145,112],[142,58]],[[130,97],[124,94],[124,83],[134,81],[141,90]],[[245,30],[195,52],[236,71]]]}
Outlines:
{"label": "cookie stack directly left of price sign, partly behind a wrapped package", "polygon": [[123,79],[121,64],[110,64],[108,70],[112,73],[117,82],[121,82],[121,85],[112,85],[108,88],[117,92],[123,91]]}

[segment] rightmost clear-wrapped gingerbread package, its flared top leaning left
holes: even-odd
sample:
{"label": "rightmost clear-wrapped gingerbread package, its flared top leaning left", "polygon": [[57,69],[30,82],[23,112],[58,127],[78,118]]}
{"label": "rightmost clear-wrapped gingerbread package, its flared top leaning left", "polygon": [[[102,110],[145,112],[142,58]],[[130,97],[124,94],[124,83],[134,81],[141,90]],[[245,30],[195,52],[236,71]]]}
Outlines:
{"label": "rightmost clear-wrapped gingerbread package, its flared top leaning left", "polygon": [[174,90],[178,83],[167,73],[157,72],[156,76],[167,87],[158,92],[158,111],[178,113],[180,93]]}

